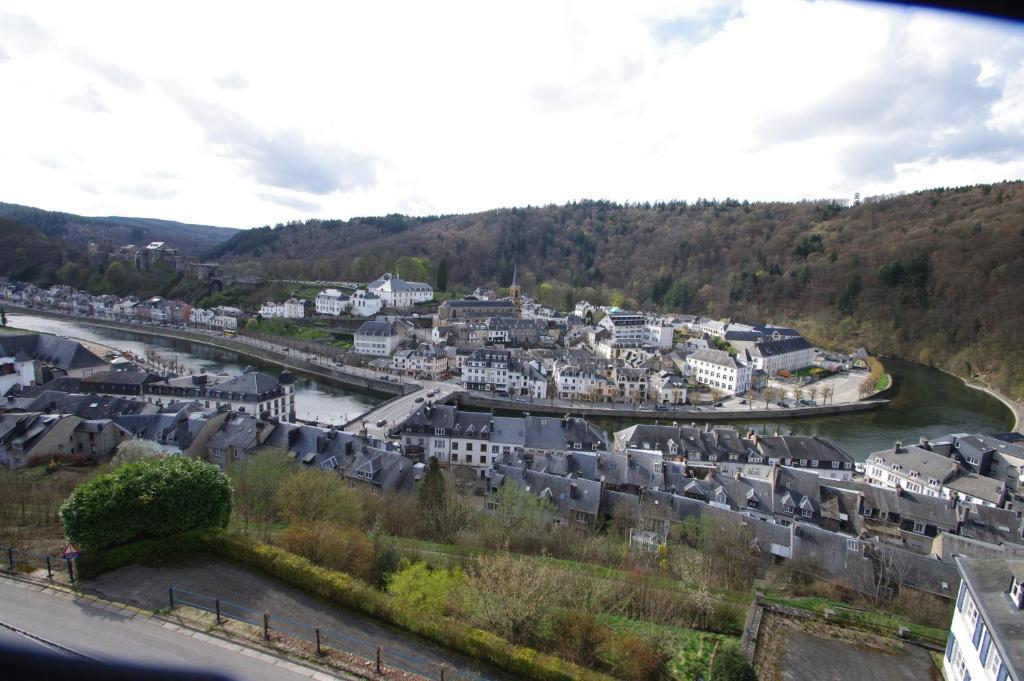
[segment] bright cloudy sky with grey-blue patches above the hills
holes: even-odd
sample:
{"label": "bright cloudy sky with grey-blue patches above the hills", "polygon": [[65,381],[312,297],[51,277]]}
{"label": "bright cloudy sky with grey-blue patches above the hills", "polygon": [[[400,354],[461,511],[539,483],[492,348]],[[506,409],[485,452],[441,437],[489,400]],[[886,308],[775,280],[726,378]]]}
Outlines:
{"label": "bright cloudy sky with grey-blue patches above the hills", "polygon": [[1024,30],[839,2],[0,6],[0,201],[229,226],[1024,176]]}

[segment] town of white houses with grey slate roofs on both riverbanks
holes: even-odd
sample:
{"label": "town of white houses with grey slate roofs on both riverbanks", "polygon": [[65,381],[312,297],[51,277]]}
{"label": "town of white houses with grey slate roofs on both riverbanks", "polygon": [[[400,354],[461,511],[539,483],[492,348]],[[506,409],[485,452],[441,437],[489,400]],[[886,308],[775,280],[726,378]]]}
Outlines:
{"label": "town of white houses with grey slate roofs on both riverbanks", "polygon": [[[867,358],[817,350],[795,330],[772,325],[586,302],[559,312],[518,286],[505,299],[481,290],[445,300],[433,315],[413,311],[432,297],[429,285],[385,274],[359,293],[381,307],[358,326],[348,356],[403,381],[453,380],[471,393],[507,398],[519,412],[528,412],[530,400],[554,398],[654,410],[695,395],[714,409],[722,399],[763,400],[766,392],[765,401],[777,395],[780,409],[813,405],[828,395],[814,379]],[[327,289],[312,305],[268,302],[247,314],[16,283],[0,286],[0,294],[8,304],[81,316],[240,332],[250,314],[340,318],[358,297]],[[217,317],[236,324],[228,329]],[[366,424],[345,432],[296,422],[288,371],[160,375],[129,361],[109,365],[74,341],[39,335],[4,337],[0,348],[0,367],[11,368],[0,403],[0,463],[11,468],[102,461],[121,442],[143,438],[222,468],[286,450],[295,465],[350,486],[411,494],[436,461],[467,492],[492,496],[511,484],[550,502],[551,522],[559,525],[589,527],[626,514],[637,550],[668,541],[673,523],[720,515],[754,533],[763,560],[807,557],[826,573],[852,577],[865,592],[896,579],[951,596],[953,553],[1024,555],[1016,510],[1024,443],[1010,436],[950,433],[897,442],[861,468],[819,437],[676,423],[608,434],[567,415],[496,416],[426,401],[376,437]],[[772,393],[769,382],[788,385],[788,394]],[[907,565],[895,577],[880,568],[894,552]]]}

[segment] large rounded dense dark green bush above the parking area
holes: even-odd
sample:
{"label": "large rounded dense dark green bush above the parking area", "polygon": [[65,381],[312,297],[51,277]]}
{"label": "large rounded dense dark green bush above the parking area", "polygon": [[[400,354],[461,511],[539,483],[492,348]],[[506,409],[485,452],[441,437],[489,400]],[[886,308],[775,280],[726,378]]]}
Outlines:
{"label": "large rounded dense dark green bush above the parking area", "polygon": [[223,527],[231,486],[214,465],[170,457],[121,466],[80,484],[60,507],[68,541],[82,551]]}

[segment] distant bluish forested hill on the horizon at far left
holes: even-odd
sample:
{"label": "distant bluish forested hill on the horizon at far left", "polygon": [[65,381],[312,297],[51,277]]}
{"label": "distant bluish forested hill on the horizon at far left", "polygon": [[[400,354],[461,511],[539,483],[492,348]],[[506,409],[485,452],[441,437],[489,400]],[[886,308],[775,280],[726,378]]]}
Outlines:
{"label": "distant bluish forested hill on the horizon at far left", "polygon": [[200,255],[238,231],[228,227],[141,217],[85,217],[3,203],[0,203],[0,217],[35,227],[44,236],[60,239],[72,248],[84,248],[95,239],[110,239],[115,246],[143,246],[156,241],[167,242],[184,255]]}

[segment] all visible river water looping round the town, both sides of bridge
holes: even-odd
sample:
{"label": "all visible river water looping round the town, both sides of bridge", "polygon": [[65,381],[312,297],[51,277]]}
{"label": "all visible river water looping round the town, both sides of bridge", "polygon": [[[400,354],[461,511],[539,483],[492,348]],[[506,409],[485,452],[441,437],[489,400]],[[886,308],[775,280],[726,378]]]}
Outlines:
{"label": "all visible river water looping round the town, both sides of bridge", "polygon": [[[175,357],[193,371],[238,374],[246,365],[273,375],[280,371],[255,358],[201,343],[14,312],[7,316],[11,326],[20,329],[92,340],[142,354],[146,349],[155,349],[161,355]],[[935,438],[955,432],[1006,432],[1013,427],[1013,415],[1002,402],[988,393],[967,387],[954,376],[900,359],[885,359],[885,366],[895,385],[889,395],[892,401],[882,409],[792,421],[730,422],[727,425],[769,434],[777,430],[780,433],[827,437],[858,461],[863,461],[872,452],[891,446],[896,440],[909,442],[916,441],[922,435]],[[346,416],[352,418],[381,401],[378,397],[346,390],[309,376],[297,374],[297,379],[296,411],[300,419],[340,423]],[[595,421],[609,431],[632,423],[620,419]]]}

